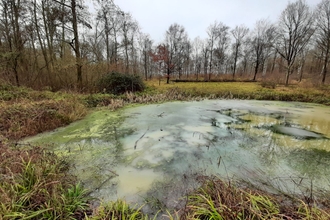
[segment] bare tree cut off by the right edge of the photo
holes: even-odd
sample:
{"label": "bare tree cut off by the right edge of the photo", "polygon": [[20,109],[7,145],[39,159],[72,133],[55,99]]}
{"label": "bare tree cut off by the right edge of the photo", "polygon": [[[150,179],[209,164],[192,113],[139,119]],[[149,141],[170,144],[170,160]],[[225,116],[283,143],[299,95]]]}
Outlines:
{"label": "bare tree cut off by the right edge of the photo", "polygon": [[321,51],[322,84],[328,72],[330,56],[330,0],[323,0],[316,9],[316,45]]}

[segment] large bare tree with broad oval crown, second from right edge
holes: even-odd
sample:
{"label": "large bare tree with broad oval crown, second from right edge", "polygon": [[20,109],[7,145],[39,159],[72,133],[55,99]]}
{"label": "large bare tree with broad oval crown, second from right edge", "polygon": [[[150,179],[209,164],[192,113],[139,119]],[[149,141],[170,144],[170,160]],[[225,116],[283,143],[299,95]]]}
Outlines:
{"label": "large bare tree with broad oval crown, second from right edge", "polygon": [[314,33],[313,25],[313,14],[303,0],[289,3],[280,16],[276,50],[286,62],[286,86],[297,56],[302,53]]}

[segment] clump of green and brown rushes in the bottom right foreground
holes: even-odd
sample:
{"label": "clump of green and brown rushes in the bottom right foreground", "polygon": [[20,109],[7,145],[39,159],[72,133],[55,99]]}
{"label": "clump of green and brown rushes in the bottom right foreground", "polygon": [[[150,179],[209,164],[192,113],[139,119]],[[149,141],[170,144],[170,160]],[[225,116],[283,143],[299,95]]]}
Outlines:
{"label": "clump of green and brown rushes in the bottom right foreground", "polygon": [[214,177],[202,180],[181,219],[330,219],[329,212],[302,200],[241,189]]}

